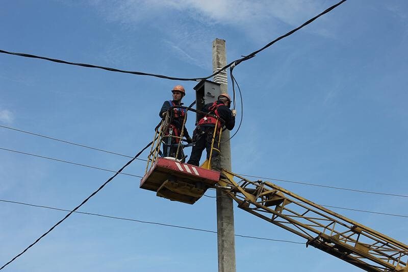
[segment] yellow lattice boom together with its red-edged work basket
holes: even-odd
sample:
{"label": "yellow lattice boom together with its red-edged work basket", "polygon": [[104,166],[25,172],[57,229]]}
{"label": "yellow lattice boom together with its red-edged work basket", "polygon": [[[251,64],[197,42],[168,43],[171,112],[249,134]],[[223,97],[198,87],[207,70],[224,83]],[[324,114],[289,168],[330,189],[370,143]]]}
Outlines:
{"label": "yellow lattice boom together with its red-edged work basket", "polygon": [[[180,135],[169,132],[170,115],[167,114],[155,129],[141,188],[188,204],[198,201],[209,188],[221,188],[238,203],[239,208],[297,234],[305,239],[306,246],[314,246],[366,271],[408,272],[408,245],[400,241],[273,183],[249,181],[225,169],[221,173],[214,171],[211,169],[211,154],[200,167],[184,163],[183,130]],[[187,113],[183,127],[186,116]],[[214,131],[211,153],[213,150],[219,152],[215,135]],[[171,139],[176,139],[176,143],[173,144]],[[161,146],[176,148],[175,158],[166,157]],[[178,154],[183,154],[181,159],[176,159]]]}

